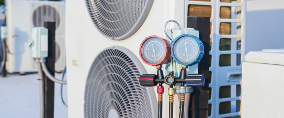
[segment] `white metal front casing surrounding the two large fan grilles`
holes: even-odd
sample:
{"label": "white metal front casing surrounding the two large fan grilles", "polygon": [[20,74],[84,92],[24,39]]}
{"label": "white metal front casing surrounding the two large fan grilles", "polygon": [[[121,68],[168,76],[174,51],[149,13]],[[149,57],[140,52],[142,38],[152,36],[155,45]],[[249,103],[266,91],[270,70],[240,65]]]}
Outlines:
{"label": "white metal front casing surrounding the two large fan grilles", "polygon": [[[88,71],[95,56],[107,47],[121,46],[128,49],[140,60],[148,73],[156,74],[157,69],[154,66],[149,66],[140,59],[139,45],[145,37],[150,35],[155,34],[166,38],[163,28],[168,20],[176,20],[184,28],[186,17],[185,7],[183,7],[185,6],[184,3],[182,0],[154,0],[150,13],[140,29],[124,40],[111,40],[97,31],[91,22],[84,0],[67,0],[66,19],[68,20],[66,20],[66,38],[68,40],[66,40],[66,65],[68,71],[68,116],[70,118],[84,117],[84,89]],[[174,28],[173,24],[168,24],[167,28]],[[167,86],[164,87],[163,118],[168,118],[169,99]],[[154,90],[156,96],[153,97],[157,98],[157,87],[154,87]],[[178,117],[179,102],[177,95],[175,95],[174,99],[174,116]]]}

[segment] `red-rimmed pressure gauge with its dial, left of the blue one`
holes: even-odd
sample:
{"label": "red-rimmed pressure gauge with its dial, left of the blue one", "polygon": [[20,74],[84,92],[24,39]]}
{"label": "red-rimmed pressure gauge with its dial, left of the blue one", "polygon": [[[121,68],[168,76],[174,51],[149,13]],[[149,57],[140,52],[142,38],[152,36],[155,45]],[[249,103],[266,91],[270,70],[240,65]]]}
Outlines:
{"label": "red-rimmed pressure gauge with its dial, left of the blue one", "polygon": [[156,35],[146,37],[140,44],[140,58],[148,65],[165,64],[171,57],[171,46],[167,40]]}

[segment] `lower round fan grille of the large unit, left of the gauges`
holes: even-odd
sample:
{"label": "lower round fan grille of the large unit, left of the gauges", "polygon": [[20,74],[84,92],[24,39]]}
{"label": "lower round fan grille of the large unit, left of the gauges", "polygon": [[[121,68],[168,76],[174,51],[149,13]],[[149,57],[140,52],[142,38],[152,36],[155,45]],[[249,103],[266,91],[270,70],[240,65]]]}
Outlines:
{"label": "lower round fan grille of the large unit, left of the gauges", "polygon": [[149,92],[139,84],[144,67],[138,67],[133,61],[136,57],[127,52],[121,47],[107,48],[93,61],[85,87],[85,118],[110,118],[114,110],[119,118],[154,116]]}

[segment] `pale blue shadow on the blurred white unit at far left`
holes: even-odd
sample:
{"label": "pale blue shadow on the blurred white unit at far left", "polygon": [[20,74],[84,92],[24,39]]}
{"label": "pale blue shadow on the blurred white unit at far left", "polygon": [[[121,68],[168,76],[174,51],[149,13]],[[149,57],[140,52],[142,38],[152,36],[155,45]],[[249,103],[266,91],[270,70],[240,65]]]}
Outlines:
{"label": "pale blue shadow on the blurred white unit at far left", "polygon": [[[15,29],[15,34],[17,35],[14,35],[13,38],[15,38],[15,52],[14,52],[14,56],[15,56],[15,60],[23,60],[23,55],[24,55],[24,52],[25,50],[28,50],[28,49],[25,49],[25,45],[26,42],[29,41],[29,36],[28,36],[28,33],[26,31],[21,31],[20,29]],[[18,65],[21,65],[21,61],[15,61],[15,70],[20,70],[20,66]]]}

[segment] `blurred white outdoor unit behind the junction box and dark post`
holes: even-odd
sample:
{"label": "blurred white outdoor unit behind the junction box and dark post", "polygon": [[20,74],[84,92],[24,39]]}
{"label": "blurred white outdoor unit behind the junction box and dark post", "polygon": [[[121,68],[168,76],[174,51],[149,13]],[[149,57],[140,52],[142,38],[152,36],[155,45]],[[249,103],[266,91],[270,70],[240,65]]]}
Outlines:
{"label": "blurred white outdoor unit behind the junction box and dark post", "polygon": [[56,71],[65,66],[65,4],[63,1],[6,0],[8,72],[35,72],[29,43],[34,27],[56,22]]}

